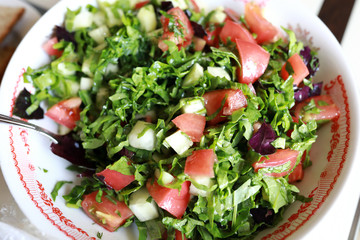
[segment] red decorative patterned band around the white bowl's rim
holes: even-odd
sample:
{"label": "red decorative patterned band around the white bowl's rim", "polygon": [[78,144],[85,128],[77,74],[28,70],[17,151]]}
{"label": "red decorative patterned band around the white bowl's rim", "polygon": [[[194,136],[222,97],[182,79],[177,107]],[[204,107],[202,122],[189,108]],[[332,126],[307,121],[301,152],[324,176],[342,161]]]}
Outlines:
{"label": "red decorative patterned band around the white bowl's rim", "polygon": [[[10,115],[12,114],[15,97],[19,92],[19,86],[22,84],[23,72],[24,69],[21,71],[12,92]],[[335,96],[337,100],[336,103],[341,106],[342,114],[339,119],[331,123],[331,137],[329,142],[331,149],[326,157],[328,164],[321,172],[317,185],[308,194],[308,196],[314,198],[314,201],[301,204],[297,211],[293,212],[286,219],[285,223],[277,226],[275,230],[270,230],[262,239],[285,239],[308,222],[328,199],[344,168],[351,134],[349,98],[343,78],[340,75],[335,76],[333,80],[326,84],[325,91]],[[19,142],[21,142],[22,145],[18,145],[17,143]],[[64,236],[71,239],[95,239],[95,237],[91,237],[88,232],[76,226],[71,219],[63,214],[61,209],[56,206],[45,191],[43,183],[36,179],[34,165],[32,165],[31,160],[27,158],[31,149],[31,144],[27,142],[27,132],[24,130],[18,131],[10,127],[9,144],[13,164],[19,180],[26,190],[27,195],[41,214],[59,231],[64,233]]]}

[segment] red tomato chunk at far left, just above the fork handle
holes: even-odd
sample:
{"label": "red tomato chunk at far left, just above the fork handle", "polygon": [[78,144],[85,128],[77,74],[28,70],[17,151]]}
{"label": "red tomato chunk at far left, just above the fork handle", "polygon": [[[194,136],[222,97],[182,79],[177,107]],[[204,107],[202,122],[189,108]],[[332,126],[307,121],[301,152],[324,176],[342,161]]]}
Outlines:
{"label": "red tomato chunk at far left, just above the fork handle", "polygon": [[76,122],[80,120],[80,105],[79,97],[69,98],[52,106],[45,115],[55,122],[73,129]]}

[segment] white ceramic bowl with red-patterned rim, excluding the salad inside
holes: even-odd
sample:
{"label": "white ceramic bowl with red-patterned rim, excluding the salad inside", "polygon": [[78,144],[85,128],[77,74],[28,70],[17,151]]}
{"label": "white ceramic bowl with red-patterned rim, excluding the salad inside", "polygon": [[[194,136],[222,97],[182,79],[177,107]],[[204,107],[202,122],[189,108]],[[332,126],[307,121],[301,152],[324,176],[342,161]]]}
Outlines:
{"label": "white ceramic bowl with red-patterned rim, excluding the salad inside", "polygon": [[[242,12],[244,1],[227,0],[221,5]],[[66,8],[75,9],[89,2],[95,1],[60,1],[25,37],[5,73],[0,92],[2,113],[11,115],[16,95],[24,87],[21,77],[24,69],[49,62],[41,45],[51,34],[53,26],[62,23]],[[295,1],[262,2],[270,21],[278,26],[291,27],[299,39],[319,49],[321,68],[316,81],[324,82],[324,92],[330,94],[341,109],[341,117],[336,122],[320,129],[311,152],[313,165],[305,171],[305,179],[298,184],[301,193],[313,197],[313,201],[295,203],[286,211],[283,222],[258,236],[260,239],[311,239],[309,233],[324,221],[323,217],[336,201],[358,156],[360,111],[357,87],[339,44],[317,17]],[[214,7],[219,1],[207,3]],[[49,119],[34,122],[50,130],[56,128]],[[136,239],[135,227],[109,233],[94,225],[81,209],[67,208],[61,197],[56,202],[51,199],[50,192],[57,181],[78,180],[65,170],[68,163],[50,152],[48,139],[17,127],[2,127],[0,134],[2,169],[8,186],[29,219],[48,236],[52,239],[94,239],[98,232],[103,232],[103,239]],[[63,188],[59,194],[69,191],[70,187]],[[354,188],[352,194],[358,196],[359,192],[360,189]]]}

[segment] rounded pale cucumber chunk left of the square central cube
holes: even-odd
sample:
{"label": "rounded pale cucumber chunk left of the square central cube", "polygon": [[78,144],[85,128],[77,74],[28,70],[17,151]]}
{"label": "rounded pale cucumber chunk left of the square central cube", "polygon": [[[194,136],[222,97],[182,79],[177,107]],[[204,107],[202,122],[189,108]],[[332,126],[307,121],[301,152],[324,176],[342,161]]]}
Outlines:
{"label": "rounded pale cucumber chunk left of the square central cube", "polygon": [[152,151],[155,148],[156,135],[152,124],[144,121],[137,121],[128,135],[130,146],[138,149]]}

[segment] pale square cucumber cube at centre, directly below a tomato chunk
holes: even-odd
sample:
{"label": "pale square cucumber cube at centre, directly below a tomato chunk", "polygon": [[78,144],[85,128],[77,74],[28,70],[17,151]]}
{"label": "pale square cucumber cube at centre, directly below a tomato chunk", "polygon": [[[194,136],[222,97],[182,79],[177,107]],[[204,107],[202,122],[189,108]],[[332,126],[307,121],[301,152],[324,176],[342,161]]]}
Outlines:
{"label": "pale square cucumber cube at centre, directly below a tomato chunk", "polygon": [[163,144],[167,148],[174,149],[177,154],[182,155],[193,145],[193,142],[188,135],[178,130],[166,137]]}

